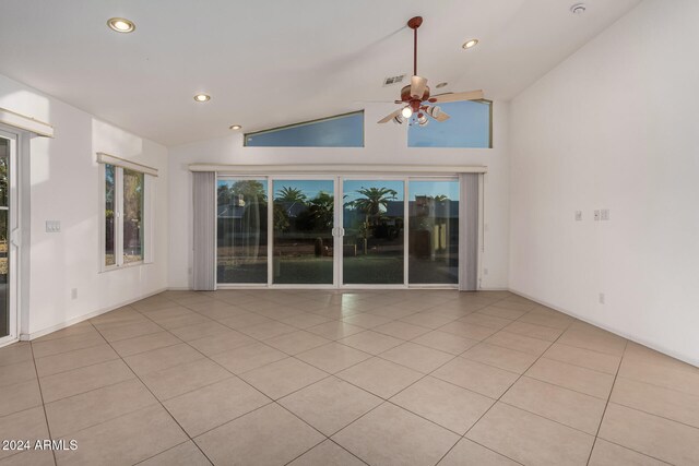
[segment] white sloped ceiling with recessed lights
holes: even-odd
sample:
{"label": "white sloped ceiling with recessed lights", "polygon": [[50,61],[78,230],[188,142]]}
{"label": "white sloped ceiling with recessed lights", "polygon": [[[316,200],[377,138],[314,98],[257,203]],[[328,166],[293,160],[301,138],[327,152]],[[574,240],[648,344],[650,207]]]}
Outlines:
{"label": "white sloped ceiling with recessed lights", "polygon": [[0,73],[171,146],[394,99],[381,84],[411,74],[414,15],[433,86],[509,99],[640,0],[577,1],[2,0]]}

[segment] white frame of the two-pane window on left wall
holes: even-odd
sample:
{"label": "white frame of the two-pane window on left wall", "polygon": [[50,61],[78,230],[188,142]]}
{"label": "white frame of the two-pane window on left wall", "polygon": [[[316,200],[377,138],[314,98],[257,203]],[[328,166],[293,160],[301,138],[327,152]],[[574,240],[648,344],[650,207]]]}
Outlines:
{"label": "white frame of the two-pane window on left wall", "polygon": [[[114,254],[115,254],[115,263],[107,265],[107,244],[106,244],[106,186],[107,186],[107,165],[110,165],[115,169],[115,222],[114,222]],[[116,271],[120,268],[129,268],[129,267],[138,267],[141,265],[147,265],[154,263],[154,254],[153,254],[153,225],[154,225],[154,214],[155,208],[153,206],[154,195],[153,195],[153,184],[154,177],[149,176],[145,171],[141,171],[134,169],[132,167],[121,167],[116,164],[110,164],[108,162],[103,162],[98,164],[98,172],[99,172],[99,272],[109,272]],[[135,171],[143,175],[143,210],[142,210],[142,239],[141,239],[141,248],[142,248],[142,259],[140,261],[134,262],[125,262],[123,260],[123,170],[128,169],[129,171]]]}

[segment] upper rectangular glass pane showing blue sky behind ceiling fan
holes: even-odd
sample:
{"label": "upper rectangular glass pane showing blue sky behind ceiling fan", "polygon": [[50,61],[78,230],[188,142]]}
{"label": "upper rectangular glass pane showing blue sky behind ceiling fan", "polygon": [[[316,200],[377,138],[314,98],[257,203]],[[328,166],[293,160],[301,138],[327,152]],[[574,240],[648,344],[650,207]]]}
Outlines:
{"label": "upper rectangular glass pane showing blue sky behind ceiling fan", "polygon": [[452,101],[440,104],[451,118],[431,120],[426,127],[407,128],[408,147],[490,147],[490,103]]}

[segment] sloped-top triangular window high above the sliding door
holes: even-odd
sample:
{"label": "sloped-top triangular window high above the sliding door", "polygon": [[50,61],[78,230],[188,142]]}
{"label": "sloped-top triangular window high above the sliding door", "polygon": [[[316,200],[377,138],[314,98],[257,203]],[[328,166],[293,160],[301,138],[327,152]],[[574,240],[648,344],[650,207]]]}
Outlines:
{"label": "sloped-top triangular window high above the sliding door", "polygon": [[364,147],[364,111],[245,135],[250,147]]}

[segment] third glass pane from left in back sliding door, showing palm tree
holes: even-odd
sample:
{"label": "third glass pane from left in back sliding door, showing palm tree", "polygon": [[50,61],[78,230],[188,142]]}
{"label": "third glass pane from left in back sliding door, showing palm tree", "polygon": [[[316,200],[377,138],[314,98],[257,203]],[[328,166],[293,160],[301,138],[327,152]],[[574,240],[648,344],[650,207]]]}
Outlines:
{"label": "third glass pane from left in back sliding door, showing palm tree", "polygon": [[403,284],[403,181],[343,182],[343,282]]}

